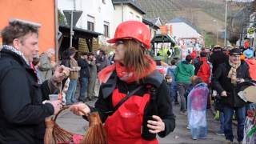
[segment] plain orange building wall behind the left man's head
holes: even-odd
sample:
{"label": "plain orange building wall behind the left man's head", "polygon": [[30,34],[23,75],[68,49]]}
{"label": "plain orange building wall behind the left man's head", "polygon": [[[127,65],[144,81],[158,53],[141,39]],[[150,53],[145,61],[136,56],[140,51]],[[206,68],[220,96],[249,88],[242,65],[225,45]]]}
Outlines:
{"label": "plain orange building wall behind the left man's head", "polygon": [[[10,18],[38,22],[41,24],[39,29],[39,53],[54,48],[54,0],[0,1],[0,10],[0,31],[8,25]],[[1,44],[2,42],[0,42]]]}

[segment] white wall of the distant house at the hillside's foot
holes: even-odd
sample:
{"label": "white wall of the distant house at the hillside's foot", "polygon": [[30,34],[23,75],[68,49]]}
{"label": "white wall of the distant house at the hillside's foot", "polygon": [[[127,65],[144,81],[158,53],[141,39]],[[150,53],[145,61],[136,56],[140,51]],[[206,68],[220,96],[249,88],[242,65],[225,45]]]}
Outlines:
{"label": "white wall of the distant house at the hillside's foot", "polygon": [[194,28],[185,22],[173,22],[166,25],[172,25],[172,36],[176,38],[199,38],[200,34]]}

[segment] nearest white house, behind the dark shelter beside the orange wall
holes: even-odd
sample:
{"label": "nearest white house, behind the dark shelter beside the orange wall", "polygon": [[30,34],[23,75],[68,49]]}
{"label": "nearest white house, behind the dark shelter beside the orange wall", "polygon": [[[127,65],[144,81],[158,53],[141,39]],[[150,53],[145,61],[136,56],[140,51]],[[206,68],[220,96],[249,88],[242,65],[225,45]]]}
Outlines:
{"label": "nearest white house, behind the dark shelter beside the orange wall", "polygon": [[103,34],[99,42],[112,38],[115,30],[114,6],[111,0],[58,0],[58,9],[81,10],[76,27]]}

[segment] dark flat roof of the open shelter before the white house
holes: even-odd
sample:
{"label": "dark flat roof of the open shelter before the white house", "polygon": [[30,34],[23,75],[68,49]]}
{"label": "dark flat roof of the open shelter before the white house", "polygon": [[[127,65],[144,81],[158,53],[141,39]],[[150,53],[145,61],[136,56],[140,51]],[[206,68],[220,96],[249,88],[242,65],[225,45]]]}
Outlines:
{"label": "dark flat roof of the open shelter before the white house", "polygon": [[[58,29],[62,33],[70,34],[70,26],[60,25]],[[91,38],[91,37],[98,38],[98,35],[102,35],[101,33],[97,33],[90,30],[84,30],[78,27],[73,27],[73,30],[74,30],[74,37],[78,37],[78,38]]]}

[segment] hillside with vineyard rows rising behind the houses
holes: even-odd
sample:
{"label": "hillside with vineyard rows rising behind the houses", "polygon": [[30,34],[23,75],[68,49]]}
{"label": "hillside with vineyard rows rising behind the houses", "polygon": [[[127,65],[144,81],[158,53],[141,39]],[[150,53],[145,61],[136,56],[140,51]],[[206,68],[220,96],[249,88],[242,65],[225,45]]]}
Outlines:
{"label": "hillside with vineyard rows rising behind the houses", "polygon": [[[143,10],[145,18],[162,19],[163,24],[172,18],[183,17],[199,30],[216,33],[224,29],[225,1],[223,0],[137,0]],[[239,10],[234,2],[229,2],[229,14]],[[218,25],[217,25],[218,23]]]}

